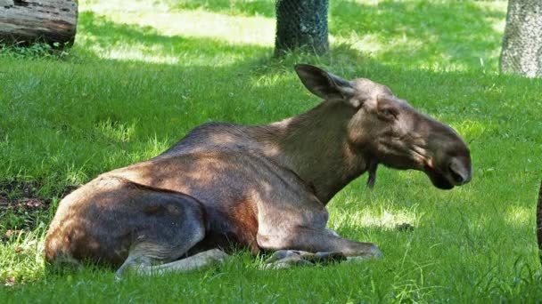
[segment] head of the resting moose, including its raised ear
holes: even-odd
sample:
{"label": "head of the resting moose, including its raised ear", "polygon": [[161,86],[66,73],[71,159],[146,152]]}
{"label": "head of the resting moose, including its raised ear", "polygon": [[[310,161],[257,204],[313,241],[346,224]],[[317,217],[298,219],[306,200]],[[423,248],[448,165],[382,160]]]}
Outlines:
{"label": "head of the resting moose, including its raised ear", "polygon": [[457,132],[417,112],[388,87],[365,78],[349,82],[308,65],[298,65],[296,71],[310,92],[355,109],[347,138],[372,162],[423,171],[442,189],[471,180],[469,148]]}

